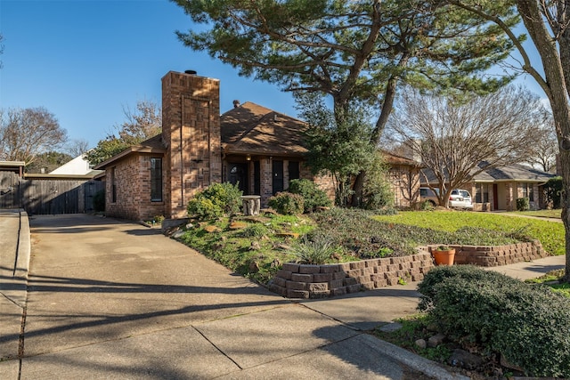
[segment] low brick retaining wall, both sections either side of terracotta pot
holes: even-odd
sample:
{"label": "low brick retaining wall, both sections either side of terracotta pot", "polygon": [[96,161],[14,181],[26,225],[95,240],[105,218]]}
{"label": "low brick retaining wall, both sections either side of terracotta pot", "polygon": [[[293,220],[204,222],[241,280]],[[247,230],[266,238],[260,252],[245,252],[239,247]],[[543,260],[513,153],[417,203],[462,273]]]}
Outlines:
{"label": "low brick retaining wall, both sections either side of terracotta pot", "polygon": [[[288,298],[324,298],[361,290],[396,285],[400,279],[421,281],[434,261],[431,249],[419,247],[419,254],[362,260],[351,263],[307,265],[284,263],[271,290]],[[546,256],[540,241],[497,247],[449,246],[455,248],[456,264],[499,266],[532,261]]]}

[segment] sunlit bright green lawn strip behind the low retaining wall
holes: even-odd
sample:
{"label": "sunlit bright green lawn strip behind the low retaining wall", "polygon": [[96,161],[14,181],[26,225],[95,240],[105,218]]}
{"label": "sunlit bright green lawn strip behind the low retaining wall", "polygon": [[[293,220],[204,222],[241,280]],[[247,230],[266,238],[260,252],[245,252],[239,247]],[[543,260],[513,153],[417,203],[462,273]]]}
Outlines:
{"label": "sunlit bright green lawn strip behind the low retaining wall", "polygon": [[404,211],[395,215],[375,216],[374,219],[448,232],[454,232],[464,226],[520,232],[539,239],[550,255],[565,254],[564,225],[560,222],[521,218],[509,214],[461,211]]}

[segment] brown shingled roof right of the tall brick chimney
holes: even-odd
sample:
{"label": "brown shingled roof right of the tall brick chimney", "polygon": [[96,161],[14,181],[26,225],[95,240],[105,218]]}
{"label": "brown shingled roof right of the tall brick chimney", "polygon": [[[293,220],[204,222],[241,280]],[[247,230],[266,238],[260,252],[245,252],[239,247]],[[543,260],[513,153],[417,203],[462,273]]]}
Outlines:
{"label": "brown shingled roof right of the tall brick chimney", "polygon": [[220,125],[226,154],[303,156],[308,151],[304,122],[250,101],[225,112]]}

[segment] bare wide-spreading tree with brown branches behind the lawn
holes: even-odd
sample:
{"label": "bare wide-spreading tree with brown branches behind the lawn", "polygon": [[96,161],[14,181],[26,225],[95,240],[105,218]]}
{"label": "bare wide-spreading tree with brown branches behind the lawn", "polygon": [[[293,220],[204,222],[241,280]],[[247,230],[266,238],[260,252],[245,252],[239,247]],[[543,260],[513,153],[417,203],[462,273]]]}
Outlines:
{"label": "bare wide-spreading tree with brown branches behind the lawn", "polygon": [[465,102],[409,89],[390,129],[435,175],[445,206],[476,174],[525,161],[542,112],[538,96],[514,86]]}

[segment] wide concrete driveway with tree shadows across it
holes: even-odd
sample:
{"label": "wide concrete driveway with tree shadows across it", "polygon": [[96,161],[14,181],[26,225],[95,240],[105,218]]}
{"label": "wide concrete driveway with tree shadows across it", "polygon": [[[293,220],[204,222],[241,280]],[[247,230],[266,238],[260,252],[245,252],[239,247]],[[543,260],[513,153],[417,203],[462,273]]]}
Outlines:
{"label": "wide concrete driveway with tree shadows across it", "polygon": [[20,352],[0,352],[3,379],[458,378],[361,329],[413,312],[413,287],[387,289],[401,298],[391,311],[370,292],[377,311],[360,318],[354,298],[290,302],[136,223],[30,225],[23,334],[1,345]]}

